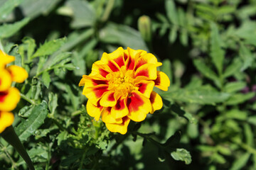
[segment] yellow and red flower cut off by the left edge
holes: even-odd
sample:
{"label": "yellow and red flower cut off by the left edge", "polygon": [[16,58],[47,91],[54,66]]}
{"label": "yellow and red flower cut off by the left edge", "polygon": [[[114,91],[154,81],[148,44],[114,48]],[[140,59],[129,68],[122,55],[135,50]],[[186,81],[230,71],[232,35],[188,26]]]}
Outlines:
{"label": "yellow and red flower cut off by the left edge", "polygon": [[18,89],[11,87],[11,82],[21,83],[28,77],[26,70],[21,67],[6,67],[6,64],[14,60],[13,56],[6,55],[0,50],[0,133],[13,123],[14,115],[10,111],[16,108],[21,98]]}

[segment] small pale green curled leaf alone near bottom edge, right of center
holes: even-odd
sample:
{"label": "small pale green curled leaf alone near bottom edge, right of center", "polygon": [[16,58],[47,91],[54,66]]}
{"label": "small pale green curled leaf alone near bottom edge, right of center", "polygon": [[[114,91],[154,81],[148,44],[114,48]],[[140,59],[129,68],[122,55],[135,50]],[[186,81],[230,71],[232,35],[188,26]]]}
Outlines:
{"label": "small pale green curled leaf alone near bottom edge, right of center", "polygon": [[171,152],[171,157],[176,161],[183,161],[185,164],[191,164],[191,154],[186,149],[176,149],[175,152]]}

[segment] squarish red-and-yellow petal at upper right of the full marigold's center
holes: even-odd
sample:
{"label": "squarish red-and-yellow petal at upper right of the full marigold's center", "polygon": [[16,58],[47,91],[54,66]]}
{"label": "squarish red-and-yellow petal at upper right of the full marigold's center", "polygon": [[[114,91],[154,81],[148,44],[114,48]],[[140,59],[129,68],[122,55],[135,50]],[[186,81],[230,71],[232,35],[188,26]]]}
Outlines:
{"label": "squarish red-and-yellow petal at upper right of the full marigold's center", "polygon": [[135,72],[135,81],[141,79],[154,80],[156,79],[156,65],[155,64],[144,64],[142,67],[139,67]]}

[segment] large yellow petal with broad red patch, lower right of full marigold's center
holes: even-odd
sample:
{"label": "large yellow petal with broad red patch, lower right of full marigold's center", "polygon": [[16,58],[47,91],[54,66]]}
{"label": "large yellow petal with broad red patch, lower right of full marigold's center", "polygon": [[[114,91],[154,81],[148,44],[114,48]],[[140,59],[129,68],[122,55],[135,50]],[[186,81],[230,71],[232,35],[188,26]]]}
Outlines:
{"label": "large yellow petal with broad red patch, lower right of full marigold's center", "polygon": [[149,98],[146,98],[138,91],[132,92],[130,97],[127,98],[127,107],[129,109],[127,116],[135,122],[141,122],[146,118],[146,114],[151,112]]}

